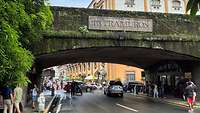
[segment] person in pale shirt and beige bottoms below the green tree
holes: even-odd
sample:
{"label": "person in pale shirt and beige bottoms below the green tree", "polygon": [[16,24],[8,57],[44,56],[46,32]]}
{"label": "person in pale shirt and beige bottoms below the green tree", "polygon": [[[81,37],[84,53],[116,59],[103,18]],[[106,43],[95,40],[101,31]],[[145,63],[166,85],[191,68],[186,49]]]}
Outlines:
{"label": "person in pale shirt and beige bottoms below the green tree", "polygon": [[23,96],[23,90],[18,84],[17,87],[14,89],[14,106],[17,111],[17,113],[21,113],[20,111],[20,104],[22,101],[22,96]]}

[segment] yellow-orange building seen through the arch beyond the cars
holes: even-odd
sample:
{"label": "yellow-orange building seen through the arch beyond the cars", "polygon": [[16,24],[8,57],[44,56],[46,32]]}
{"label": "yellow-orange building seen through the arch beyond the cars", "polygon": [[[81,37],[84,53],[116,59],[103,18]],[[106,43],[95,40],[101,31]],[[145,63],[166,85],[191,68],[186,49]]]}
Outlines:
{"label": "yellow-orange building seen through the arch beyond the cars", "polygon": [[128,81],[141,81],[143,69],[133,66],[112,63],[76,63],[68,64],[66,68],[66,75],[71,79],[84,79],[87,76],[93,76],[94,79],[102,79],[101,73],[105,80],[121,80],[122,82]]}

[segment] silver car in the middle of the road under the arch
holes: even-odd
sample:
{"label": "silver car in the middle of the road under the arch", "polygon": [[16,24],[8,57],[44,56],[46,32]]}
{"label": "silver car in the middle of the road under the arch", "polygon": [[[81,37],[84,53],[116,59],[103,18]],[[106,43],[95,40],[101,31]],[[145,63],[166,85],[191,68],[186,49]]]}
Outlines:
{"label": "silver car in the middle of the road under the arch", "polygon": [[107,96],[120,96],[123,97],[123,85],[121,81],[110,81],[108,86],[104,88],[104,94]]}

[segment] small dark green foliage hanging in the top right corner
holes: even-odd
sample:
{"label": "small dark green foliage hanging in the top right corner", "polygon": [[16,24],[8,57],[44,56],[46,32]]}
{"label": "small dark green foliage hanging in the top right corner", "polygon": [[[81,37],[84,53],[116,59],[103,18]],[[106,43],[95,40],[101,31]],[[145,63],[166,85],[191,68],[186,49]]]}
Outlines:
{"label": "small dark green foliage hanging in the top right corner", "polygon": [[196,15],[197,11],[200,8],[200,0],[189,0],[187,4],[186,11],[190,11],[190,15]]}

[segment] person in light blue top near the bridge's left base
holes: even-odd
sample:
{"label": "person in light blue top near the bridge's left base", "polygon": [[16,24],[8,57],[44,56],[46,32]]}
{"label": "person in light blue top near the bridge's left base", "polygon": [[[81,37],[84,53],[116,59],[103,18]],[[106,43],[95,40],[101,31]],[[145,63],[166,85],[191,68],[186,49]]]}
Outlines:
{"label": "person in light blue top near the bridge's left base", "polygon": [[35,109],[38,96],[38,88],[36,85],[34,85],[34,88],[31,90],[31,96],[32,96],[32,109]]}

